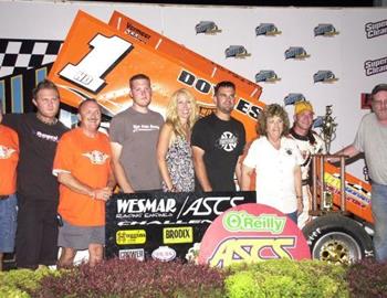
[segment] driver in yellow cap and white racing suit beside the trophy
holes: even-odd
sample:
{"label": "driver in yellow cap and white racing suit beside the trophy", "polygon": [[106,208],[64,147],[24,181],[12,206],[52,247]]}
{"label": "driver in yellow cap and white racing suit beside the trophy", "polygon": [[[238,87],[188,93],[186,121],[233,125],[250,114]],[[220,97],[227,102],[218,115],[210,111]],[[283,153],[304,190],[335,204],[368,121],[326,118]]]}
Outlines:
{"label": "driver in yellow cap and white racing suit beside the trophy", "polygon": [[300,228],[311,220],[308,212],[312,201],[310,174],[312,155],[322,153],[324,147],[322,138],[312,130],[313,116],[314,110],[310,102],[302,100],[294,104],[294,124],[290,130],[290,136],[295,140],[303,159],[301,175],[304,210],[297,220]]}

